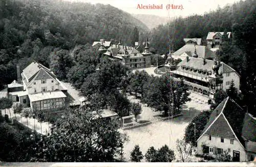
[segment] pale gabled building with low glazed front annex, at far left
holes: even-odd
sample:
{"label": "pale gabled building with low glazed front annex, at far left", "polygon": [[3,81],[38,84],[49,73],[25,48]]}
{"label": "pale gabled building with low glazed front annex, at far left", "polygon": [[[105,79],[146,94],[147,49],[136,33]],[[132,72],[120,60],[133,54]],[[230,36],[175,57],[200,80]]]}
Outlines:
{"label": "pale gabled building with low glazed front annex, at far left", "polygon": [[8,85],[9,98],[13,102],[31,107],[32,111],[65,108],[67,88],[49,68],[34,61],[23,70],[21,76],[22,81],[19,81],[18,73],[18,82],[13,81]]}

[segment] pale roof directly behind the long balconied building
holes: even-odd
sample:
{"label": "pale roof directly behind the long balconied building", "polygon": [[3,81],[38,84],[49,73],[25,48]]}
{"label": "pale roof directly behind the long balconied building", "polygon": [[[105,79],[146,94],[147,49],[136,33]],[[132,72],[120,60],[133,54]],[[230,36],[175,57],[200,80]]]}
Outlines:
{"label": "pale roof directly behind the long balconied building", "polygon": [[215,53],[208,49],[208,47],[203,46],[203,45],[194,45],[194,44],[185,44],[182,46],[178,51],[174,52],[174,55],[180,56],[184,52],[195,52],[195,46],[196,46],[196,52],[198,55],[198,58],[215,58]]}

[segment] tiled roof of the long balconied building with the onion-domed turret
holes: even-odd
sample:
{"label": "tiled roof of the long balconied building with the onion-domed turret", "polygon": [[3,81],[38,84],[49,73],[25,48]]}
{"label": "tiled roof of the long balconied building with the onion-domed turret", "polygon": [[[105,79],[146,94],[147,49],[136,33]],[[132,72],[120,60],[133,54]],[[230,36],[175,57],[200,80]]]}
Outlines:
{"label": "tiled roof of the long balconied building with the onion-domed turret", "polygon": [[[194,67],[194,68],[198,68],[198,69],[202,69],[202,70],[212,70],[211,67],[212,67],[212,65],[214,65],[214,61],[205,59],[205,64],[203,63],[203,61],[204,61],[204,59],[201,59],[201,58],[188,57],[188,62],[186,61],[186,59],[182,60],[178,64],[178,66],[179,66],[178,68],[181,68],[181,66],[184,65],[184,66],[190,66],[190,67]],[[236,70],[234,70],[227,64],[225,64],[223,62],[220,63],[219,74],[228,73],[228,72],[232,72],[232,71],[236,72]]]}

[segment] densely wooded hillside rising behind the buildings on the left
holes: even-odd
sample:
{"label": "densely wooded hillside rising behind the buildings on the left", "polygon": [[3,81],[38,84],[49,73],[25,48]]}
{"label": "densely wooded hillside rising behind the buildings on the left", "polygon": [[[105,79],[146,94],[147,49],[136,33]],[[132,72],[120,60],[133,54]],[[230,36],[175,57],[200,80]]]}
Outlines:
{"label": "densely wooded hillside rising behind the buildings on the left", "polygon": [[99,39],[131,43],[135,26],[147,31],[142,22],[110,5],[0,0],[0,83],[16,79],[17,46],[22,69],[33,60],[49,66],[53,51],[69,53],[75,45]]}

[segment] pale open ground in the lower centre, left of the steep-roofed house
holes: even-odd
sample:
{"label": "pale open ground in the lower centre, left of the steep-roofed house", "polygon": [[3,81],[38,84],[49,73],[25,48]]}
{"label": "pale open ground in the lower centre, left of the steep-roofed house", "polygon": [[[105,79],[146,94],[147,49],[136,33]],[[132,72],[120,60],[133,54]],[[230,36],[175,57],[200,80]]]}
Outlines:
{"label": "pale open ground in the lower centre, left of the steep-roofed house", "polygon": [[[202,110],[209,109],[209,105],[206,104],[208,100],[206,97],[193,92],[190,97],[193,97],[193,100],[182,106],[182,116],[175,117],[173,120],[156,122],[147,126],[122,131],[129,136],[129,141],[124,145],[125,160],[130,160],[130,152],[136,144],[139,145],[143,154],[151,146],[158,149],[165,144],[176,153],[176,140],[183,138],[185,128],[189,122]],[[145,160],[143,159],[143,161]]]}

